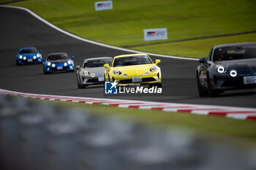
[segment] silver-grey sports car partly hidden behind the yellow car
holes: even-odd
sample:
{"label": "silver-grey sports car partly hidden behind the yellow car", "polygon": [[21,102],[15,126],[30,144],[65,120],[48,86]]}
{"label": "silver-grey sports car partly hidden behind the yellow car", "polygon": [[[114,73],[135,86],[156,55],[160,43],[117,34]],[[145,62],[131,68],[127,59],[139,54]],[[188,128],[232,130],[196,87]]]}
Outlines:
{"label": "silver-grey sports car partly hidden behind the yellow car", "polygon": [[105,82],[103,67],[105,63],[112,64],[112,58],[87,58],[83,61],[83,67],[76,66],[78,88],[86,88],[87,85],[102,84]]}

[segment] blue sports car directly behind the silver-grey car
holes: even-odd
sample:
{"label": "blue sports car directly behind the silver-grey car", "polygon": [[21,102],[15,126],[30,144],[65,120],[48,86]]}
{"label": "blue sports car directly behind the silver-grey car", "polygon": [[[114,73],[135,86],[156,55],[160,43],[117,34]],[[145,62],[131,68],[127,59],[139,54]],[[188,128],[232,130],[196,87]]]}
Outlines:
{"label": "blue sports car directly behind the silver-grey car", "polygon": [[44,74],[57,71],[74,72],[73,56],[69,57],[67,53],[50,53],[47,59],[42,59],[42,69]]}

